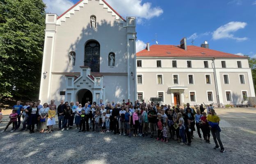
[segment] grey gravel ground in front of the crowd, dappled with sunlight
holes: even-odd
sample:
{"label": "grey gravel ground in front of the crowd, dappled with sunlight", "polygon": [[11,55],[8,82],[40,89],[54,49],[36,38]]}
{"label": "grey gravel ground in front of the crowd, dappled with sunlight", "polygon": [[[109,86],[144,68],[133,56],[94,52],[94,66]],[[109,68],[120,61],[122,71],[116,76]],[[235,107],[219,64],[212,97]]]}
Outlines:
{"label": "grey gravel ground in front of the crowd, dappled with sunlight", "polygon": [[[216,109],[221,117],[221,139],[225,153],[199,140],[197,132],[191,146],[181,146],[170,140],[162,143],[148,137],[126,137],[112,133],[80,132],[53,133],[14,131],[0,133],[0,164],[252,164],[256,161],[256,110],[253,108]],[[0,130],[7,123],[0,123]]]}

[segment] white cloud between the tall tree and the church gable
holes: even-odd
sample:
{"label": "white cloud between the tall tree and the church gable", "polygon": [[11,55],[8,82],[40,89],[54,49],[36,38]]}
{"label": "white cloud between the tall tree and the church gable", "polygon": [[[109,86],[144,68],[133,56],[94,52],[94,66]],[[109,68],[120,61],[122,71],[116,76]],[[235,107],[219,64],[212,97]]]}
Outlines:
{"label": "white cloud between the tall tree and the church gable", "polygon": [[74,5],[71,0],[43,0],[43,2],[47,6],[46,13],[53,13],[58,16]]}

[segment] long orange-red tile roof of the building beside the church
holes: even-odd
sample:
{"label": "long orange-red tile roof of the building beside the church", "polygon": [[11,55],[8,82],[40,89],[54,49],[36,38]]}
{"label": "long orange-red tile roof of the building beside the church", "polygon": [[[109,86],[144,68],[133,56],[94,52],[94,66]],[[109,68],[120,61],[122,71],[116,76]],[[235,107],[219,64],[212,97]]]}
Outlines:
{"label": "long orange-red tile roof of the building beside the church", "polygon": [[175,45],[152,45],[150,51],[144,49],[136,53],[137,57],[216,57],[247,58],[198,46],[187,46],[187,50]]}

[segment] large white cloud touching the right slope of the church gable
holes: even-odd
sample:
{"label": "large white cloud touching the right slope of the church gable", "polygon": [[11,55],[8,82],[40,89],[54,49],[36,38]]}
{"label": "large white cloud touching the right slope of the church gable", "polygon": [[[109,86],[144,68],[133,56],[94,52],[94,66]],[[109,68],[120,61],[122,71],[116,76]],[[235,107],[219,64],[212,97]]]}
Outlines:
{"label": "large white cloud touching the right slope of the church gable", "polygon": [[142,3],[142,0],[107,0],[107,3],[123,17],[137,17],[137,23],[142,23],[141,19],[158,17],[164,12],[160,7],[152,7],[150,2]]}

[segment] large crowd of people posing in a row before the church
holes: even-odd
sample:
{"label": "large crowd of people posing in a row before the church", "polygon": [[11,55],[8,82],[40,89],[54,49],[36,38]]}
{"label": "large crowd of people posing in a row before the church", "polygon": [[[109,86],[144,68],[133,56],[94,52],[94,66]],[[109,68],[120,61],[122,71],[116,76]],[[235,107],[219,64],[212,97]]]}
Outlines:
{"label": "large crowd of people posing in a row before the church", "polygon": [[[21,101],[17,101],[17,105],[14,105],[9,115],[9,123],[1,132],[5,132],[12,124],[11,132],[29,130],[32,134],[37,125],[38,132],[52,133],[57,114],[58,130],[62,131],[77,129],[78,132],[89,132],[91,130],[113,132],[119,136],[123,134],[128,137],[150,135],[150,138],[162,142],[172,139],[187,146],[190,146],[194,139],[196,126],[199,139],[204,139],[210,144],[211,132],[215,142],[214,149],[220,147],[220,152],[225,151],[220,139],[220,119],[212,106],[207,107],[207,112],[204,112],[203,104],[193,108],[187,103],[183,109],[179,104],[171,107],[171,105],[160,105],[154,102],[146,104],[144,100],[142,103],[137,100],[133,104],[130,99],[127,102],[123,100],[123,103],[108,102],[106,105],[102,100],[98,104],[88,102],[85,105],[79,102],[64,103],[64,100],[61,100],[58,106],[55,105],[55,100],[51,100],[50,104],[41,105],[40,103],[40,100],[27,101],[23,106]],[[1,111],[0,116],[2,118]],[[20,129],[21,117],[23,121]]]}

